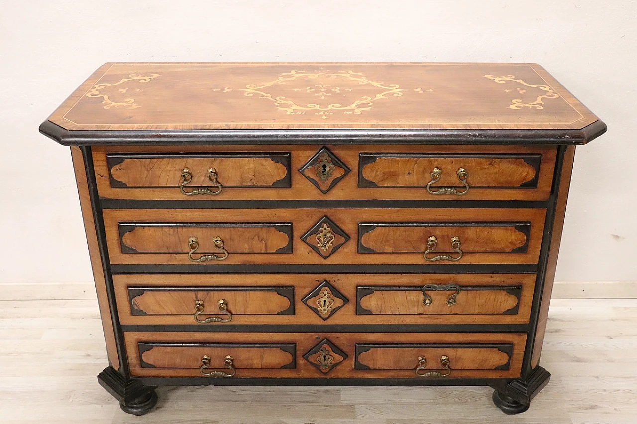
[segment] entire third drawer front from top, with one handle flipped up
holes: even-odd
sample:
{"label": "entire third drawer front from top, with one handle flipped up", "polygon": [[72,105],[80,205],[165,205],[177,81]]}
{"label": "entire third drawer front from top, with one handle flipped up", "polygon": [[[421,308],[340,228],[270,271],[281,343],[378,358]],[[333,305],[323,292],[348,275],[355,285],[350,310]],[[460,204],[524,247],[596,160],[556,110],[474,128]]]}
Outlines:
{"label": "entire third drawer front from top, with one handle flipped up", "polygon": [[[535,274],[113,276],[122,324],[527,323]],[[199,301],[199,302],[197,302]]]}

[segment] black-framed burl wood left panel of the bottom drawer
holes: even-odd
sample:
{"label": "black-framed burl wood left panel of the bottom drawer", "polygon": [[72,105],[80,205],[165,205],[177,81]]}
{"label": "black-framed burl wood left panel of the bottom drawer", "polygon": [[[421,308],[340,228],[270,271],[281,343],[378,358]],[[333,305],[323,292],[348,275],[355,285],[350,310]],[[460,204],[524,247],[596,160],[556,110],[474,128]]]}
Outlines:
{"label": "black-framed burl wood left panel of the bottom drawer", "polygon": [[294,369],[294,343],[139,343],[142,368],[201,367],[210,358],[212,367],[222,368],[227,356],[241,369]]}

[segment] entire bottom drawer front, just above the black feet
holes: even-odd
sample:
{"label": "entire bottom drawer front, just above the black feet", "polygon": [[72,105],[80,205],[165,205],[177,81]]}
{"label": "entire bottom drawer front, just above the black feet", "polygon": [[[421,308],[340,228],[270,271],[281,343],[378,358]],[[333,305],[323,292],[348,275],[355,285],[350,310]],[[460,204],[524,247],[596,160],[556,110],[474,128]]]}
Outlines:
{"label": "entire bottom drawer front, just above the black feet", "polygon": [[200,378],[515,378],[526,341],[519,333],[125,332],[124,337],[132,376]]}

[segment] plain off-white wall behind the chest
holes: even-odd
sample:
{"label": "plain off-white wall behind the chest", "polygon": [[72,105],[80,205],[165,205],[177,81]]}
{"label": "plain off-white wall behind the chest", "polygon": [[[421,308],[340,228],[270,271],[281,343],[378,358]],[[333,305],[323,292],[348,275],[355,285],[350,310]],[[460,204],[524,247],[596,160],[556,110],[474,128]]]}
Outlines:
{"label": "plain off-white wall behind the chest", "polygon": [[107,61],[539,62],[610,128],[578,148],[557,278],[637,280],[634,1],[0,1],[0,282],[88,281],[68,148],[38,134]]}

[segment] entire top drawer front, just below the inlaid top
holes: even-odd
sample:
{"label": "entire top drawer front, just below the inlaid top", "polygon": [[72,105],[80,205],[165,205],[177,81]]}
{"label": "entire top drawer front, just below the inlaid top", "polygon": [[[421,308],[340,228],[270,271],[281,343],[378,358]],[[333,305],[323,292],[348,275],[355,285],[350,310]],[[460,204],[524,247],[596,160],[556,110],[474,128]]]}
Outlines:
{"label": "entire top drawer front, just below the inlaid top", "polygon": [[[94,146],[92,152],[99,194],[110,199],[543,201],[556,148]],[[214,195],[191,194],[205,188]]]}

